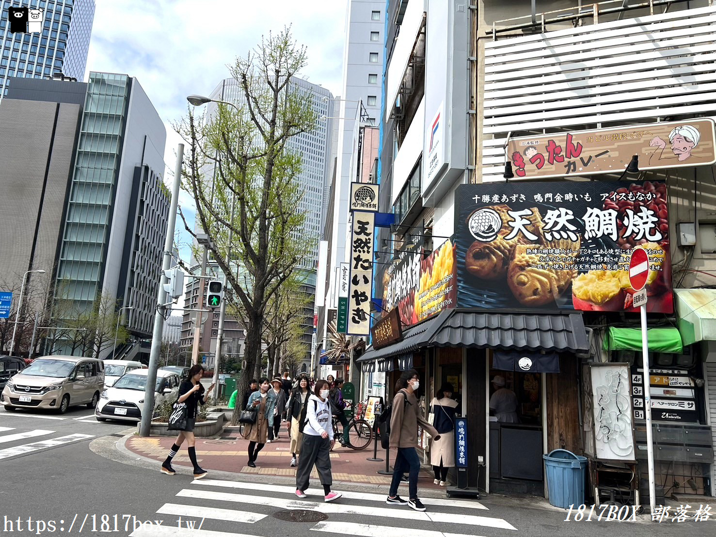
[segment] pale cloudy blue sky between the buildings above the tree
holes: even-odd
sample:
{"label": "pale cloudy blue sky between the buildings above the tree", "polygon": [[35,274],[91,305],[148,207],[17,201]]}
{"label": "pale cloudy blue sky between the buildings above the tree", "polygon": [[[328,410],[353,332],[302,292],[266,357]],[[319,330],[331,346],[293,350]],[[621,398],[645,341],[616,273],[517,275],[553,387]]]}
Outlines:
{"label": "pale cloudy blue sky between the buildings above the tree", "polygon": [[[165,183],[170,185],[181,142],[170,122],[186,114],[186,96],[208,95],[229,76],[226,65],[246,55],[269,30],[292,24],[294,37],[308,49],[302,77],[340,95],[346,5],[347,0],[97,0],[87,72],[137,77],[165,122]],[[189,196],[182,193],[179,203],[193,221]],[[184,260],[190,256],[189,241],[182,233]]]}

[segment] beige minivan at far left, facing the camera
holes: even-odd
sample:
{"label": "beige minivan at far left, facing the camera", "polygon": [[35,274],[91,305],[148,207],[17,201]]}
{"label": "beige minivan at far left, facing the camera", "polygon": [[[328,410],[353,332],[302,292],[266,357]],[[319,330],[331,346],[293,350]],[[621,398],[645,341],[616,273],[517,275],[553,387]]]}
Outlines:
{"label": "beige minivan at far left, facing the camera", "polygon": [[5,410],[54,409],[60,414],[74,405],[95,408],[104,388],[101,360],[77,356],[44,356],[17,373],[2,391]]}

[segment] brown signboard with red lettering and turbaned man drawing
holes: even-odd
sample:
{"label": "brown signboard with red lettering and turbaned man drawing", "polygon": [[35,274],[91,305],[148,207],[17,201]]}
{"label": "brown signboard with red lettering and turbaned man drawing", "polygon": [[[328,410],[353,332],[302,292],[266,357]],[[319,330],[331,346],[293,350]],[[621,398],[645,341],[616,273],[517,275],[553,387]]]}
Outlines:
{"label": "brown signboard with red lettering and turbaned man drawing", "polygon": [[515,178],[622,173],[633,155],[639,170],[716,163],[714,122],[684,120],[511,138],[507,157]]}

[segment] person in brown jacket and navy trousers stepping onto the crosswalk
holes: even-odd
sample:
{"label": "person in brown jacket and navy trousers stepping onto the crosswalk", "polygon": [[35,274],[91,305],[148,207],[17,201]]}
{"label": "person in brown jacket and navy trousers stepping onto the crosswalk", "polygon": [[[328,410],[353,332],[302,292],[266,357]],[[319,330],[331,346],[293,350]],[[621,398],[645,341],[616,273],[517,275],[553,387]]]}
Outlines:
{"label": "person in brown jacket and navy trousers stepping onto the crosswalk", "polygon": [[[390,447],[397,448],[393,479],[385,503],[388,505],[408,505],[415,511],[425,511],[425,505],[417,498],[417,475],[420,473],[420,458],[417,456],[417,425],[425,429],[433,440],[440,440],[435,427],[420,415],[415,392],[420,387],[420,377],[415,369],[404,371],[395,384],[395,397],[390,415]],[[407,501],[398,495],[398,486],[403,472],[409,470]]]}

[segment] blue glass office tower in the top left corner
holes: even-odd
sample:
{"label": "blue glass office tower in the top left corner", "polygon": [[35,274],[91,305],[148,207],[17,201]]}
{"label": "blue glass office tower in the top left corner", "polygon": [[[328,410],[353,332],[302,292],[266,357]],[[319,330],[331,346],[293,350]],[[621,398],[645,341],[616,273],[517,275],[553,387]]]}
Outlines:
{"label": "blue glass office tower in the top left corner", "polygon": [[[89,37],[95,18],[95,0],[1,0],[0,100],[11,77],[46,78],[62,73],[79,82],[84,79]],[[42,9],[42,29],[11,33],[8,8]]]}

